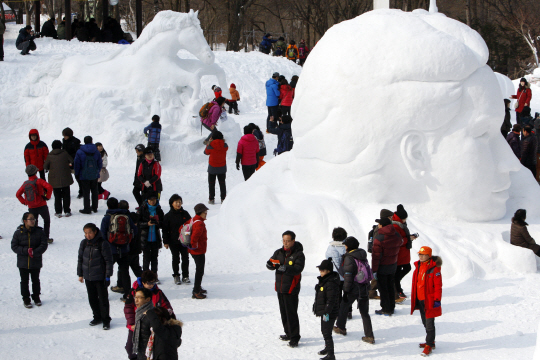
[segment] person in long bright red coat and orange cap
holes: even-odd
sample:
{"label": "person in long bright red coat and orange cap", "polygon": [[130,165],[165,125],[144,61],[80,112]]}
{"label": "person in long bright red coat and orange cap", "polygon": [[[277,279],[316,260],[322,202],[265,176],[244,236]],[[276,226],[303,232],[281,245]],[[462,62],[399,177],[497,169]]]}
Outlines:
{"label": "person in long bright red coat and orange cap", "polygon": [[432,256],[431,248],[422,246],[418,252],[419,261],[414,263],[412,281],[411,315],[420,310],[422,324],[426,329],[426,342],[420,344],[422,356],[428,356],[435,349],[435,318],[442,315],[442,259]]}

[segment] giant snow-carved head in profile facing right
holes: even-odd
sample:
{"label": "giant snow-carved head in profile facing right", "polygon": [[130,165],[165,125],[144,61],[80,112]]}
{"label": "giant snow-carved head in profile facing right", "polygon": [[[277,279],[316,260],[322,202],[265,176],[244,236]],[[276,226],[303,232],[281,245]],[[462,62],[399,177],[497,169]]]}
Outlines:
{"label": "giant snow-carved head in profile facing right", "polygon": [[501,218],[519,163],[487,60],[480,35],[442,14],[379,10],[334,26],[296,88],[295,180],[353,204]]}

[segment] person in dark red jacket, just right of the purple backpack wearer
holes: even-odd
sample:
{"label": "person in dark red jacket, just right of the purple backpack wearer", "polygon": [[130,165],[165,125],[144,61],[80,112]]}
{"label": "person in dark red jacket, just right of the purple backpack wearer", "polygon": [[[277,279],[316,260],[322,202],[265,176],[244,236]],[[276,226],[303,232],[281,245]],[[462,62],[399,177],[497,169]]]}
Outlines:
{"label": "person in dark red jacket, just right of the purple backpack wearer", "polygon": [[391,316],[396,307],[395,274],[399,248],[403,239],[388,218],[376,221],[379,223],[379,233],[373,237],[371,266],[373,277],[377,279],[381,292],[381,310],[375,310],[375,314]]}

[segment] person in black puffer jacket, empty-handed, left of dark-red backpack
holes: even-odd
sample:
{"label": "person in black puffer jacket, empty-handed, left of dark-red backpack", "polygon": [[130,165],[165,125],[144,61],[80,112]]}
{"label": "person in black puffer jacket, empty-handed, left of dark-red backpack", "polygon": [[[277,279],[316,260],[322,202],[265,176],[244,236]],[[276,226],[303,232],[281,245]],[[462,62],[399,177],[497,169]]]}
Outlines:
{"label": "person in black puffer jacket, empty-handed, left of dark-red backpack", "polygon": [[114,265],[111,247],[95,224],[88,223],[83,229],[85,239],[79,246],[77,275],[81,283],[86,282],[88,302],[94,315],[90,326],[103,323],[103,330],[109,330],[111,317],[107,287],[111,283]]}

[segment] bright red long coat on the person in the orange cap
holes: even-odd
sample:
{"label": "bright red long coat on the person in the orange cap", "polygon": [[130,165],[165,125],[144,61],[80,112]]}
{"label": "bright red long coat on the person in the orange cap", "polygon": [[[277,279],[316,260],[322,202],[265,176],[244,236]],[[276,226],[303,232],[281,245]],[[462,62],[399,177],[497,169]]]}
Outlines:
{"label": "bright red long coat on the person in the orange cap", "polygon": [[432,256],[428,260],[428,269],[424,275],[424,279],[418,279],[418,272],[420,270],[420,261],[414,263],[416,267],[413,274],[412,294],[411,294],[411,315],[416,308],[416,287],[418,281],[424,281],[424,291],[426,299],[424,300],[424,306],[426,308],[426,318],[431,319],[442,315],[441,307],[434,308],[433,303],[435,301],[441,301],[442,298],[442,276],[441,266],[442,259],[439,256]]}

